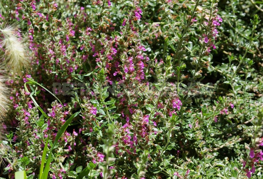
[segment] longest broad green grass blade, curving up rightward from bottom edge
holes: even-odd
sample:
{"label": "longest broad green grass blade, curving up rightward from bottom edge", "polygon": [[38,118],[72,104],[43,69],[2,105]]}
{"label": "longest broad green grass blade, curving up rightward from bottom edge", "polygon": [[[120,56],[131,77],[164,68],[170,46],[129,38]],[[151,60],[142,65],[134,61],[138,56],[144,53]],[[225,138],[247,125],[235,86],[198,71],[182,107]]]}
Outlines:
{"label": "longest broad green grass blade, curving up rightward from bottom edge", "polygon": [[80,111],[74,113],[70,118],[68,118],[68,120],[63,124],[63,126],[58,130],[57,136],[56,136],[54,143],[53,143],[53,145],[49,151],[49,155],[48,155],[47,163],[46,163],[45,168],[44,168],[42,179],[48,178],[48,172],[50,169],[50,161],[51,161],[52,151],[53,151],[54,147],[56,146],[56,144],[57,144],[58,140],[60,139],[60,137],[62,136],[62,134],[67,129],[68,125],[71,123],[72,119],[75,118],[77,115],[79,115],[79,113],[80,113]]}

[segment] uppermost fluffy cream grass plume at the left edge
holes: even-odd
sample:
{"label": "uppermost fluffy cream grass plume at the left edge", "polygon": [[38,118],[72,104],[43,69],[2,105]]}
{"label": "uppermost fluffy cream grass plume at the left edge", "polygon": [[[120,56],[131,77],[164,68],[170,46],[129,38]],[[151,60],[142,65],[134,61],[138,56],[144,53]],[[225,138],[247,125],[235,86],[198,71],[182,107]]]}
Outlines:
{"label": "uppermost fluffy cream grass plume at the left edge", "polygon": [[4,51],[2,55],[4,65],[7,70],[20,75],[22,68],[26,67],[29,62],[25,58],[23,42],[17,35],[17,26],[4,26],[0,31],[3,35],[0,45]]}

